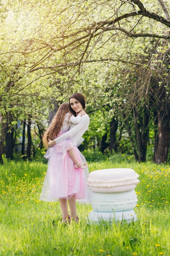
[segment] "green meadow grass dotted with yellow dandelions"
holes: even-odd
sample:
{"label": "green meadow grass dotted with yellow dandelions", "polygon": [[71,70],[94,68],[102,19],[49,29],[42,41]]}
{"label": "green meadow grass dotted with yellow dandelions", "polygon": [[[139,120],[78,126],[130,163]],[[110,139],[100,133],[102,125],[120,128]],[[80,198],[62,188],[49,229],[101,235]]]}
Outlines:
{"label": "green meadow grass dotted with yellow dandelions", "polygon": [[[138,220],[88,223],[91,205],[77,204],[78,225],[61,224],[60,204],[39,200],[46,172],[39,162],[0,166],[0,256],[170,255],[170,167],[147,162],[89,164],[89,170],[133,168]],[[169,201],[169,202],[168,202]]]}

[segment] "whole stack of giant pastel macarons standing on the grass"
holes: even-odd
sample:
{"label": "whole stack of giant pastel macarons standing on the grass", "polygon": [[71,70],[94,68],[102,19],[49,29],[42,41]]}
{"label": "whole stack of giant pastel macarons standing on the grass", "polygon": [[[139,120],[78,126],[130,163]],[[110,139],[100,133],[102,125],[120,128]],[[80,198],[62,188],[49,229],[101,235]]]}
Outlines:
{"label": "whole stack of giant pastel macarons standing on the grass", "polygon": [[89,221],[137,220],[133,210],[137,204],[136,185],[139,174],[130,168],[113,168],[89,173],[87,185],[90,189],[92,211]]}

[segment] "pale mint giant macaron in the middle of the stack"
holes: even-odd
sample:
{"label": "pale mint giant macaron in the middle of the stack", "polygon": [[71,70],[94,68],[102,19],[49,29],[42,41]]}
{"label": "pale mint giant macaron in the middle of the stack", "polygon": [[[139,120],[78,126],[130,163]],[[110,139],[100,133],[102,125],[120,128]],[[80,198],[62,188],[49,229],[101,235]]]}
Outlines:
{"label": "pale mint giant macaron in the middle of the stack", "polygon": [[128,211],[135,208],[137,195],[135,190],[119,193],[95,193],[91,191],[90,202],[95,211]]}

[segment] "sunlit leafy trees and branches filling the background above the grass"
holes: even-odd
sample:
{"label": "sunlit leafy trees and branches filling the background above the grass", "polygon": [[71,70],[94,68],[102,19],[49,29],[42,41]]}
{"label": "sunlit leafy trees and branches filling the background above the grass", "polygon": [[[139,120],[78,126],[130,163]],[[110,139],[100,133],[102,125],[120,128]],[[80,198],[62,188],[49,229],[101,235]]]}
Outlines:
{"label": "sunlit leafy trees and branches filling the background above the grass", "polygon": [[87,161],[170,161],[168,0],[0,0],[0,162],[44,154],[74,92],[91,122]]}

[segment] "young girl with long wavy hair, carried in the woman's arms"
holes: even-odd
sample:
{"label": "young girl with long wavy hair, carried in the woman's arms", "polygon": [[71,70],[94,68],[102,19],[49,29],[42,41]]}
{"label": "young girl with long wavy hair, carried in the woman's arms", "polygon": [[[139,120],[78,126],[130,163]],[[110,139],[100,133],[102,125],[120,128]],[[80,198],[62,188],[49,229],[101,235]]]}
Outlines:
{"label": "young girl with long wavy hair, carried in the woman's arms", "polygon": [[[45,148],[48,147],[48,142],[50,140],[53,140],[60,135],[62,135],[64,132],[67,132],[71,126],[71,124],[78,124],[79,121],[81,120],[82,115],[85,115],[84,112],[80,112],[77,117],[75,117],[71,111],[70,111],[70,104],[68,102],[62,103],[55,114],[55,117],[51,121],[51,124],[49,125],[49,128],[46,130],[43,136],[43,144]],[[73,148],[73,143],[71,139],[66,139],[64,141],[61,141],[59,144],[54,145],[55,149],[57,152],[61,153],[64,152],[65,150],[68,151],[69,156],[73,160],[75,164],[75,168],[87,168],[87,164],[83,164],[82,162],[79,162],[76,155],[75,151]],[[44,155],[47,159],[49,159],[49,152]]]}

